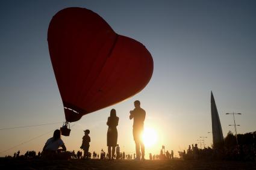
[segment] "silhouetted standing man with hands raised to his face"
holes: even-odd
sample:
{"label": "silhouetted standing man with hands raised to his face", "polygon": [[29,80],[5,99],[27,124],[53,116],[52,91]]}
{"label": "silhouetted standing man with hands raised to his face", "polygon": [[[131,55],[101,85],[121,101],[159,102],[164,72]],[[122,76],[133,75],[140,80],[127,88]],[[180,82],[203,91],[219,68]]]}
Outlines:
{"label": "silhouetted standing man with hands raised to his face", "polygon": [[[136,160],[140,160],[140,156],[142,160],[145,160],[145,146],[140,136],[144,130],[146,112],[140,108],[139,100],[134,102],[134,107],[134,110],[130,111],[130,120],[133,119],[133,138],[136,145]],[[140,149],[142,153],[140,153]]]}

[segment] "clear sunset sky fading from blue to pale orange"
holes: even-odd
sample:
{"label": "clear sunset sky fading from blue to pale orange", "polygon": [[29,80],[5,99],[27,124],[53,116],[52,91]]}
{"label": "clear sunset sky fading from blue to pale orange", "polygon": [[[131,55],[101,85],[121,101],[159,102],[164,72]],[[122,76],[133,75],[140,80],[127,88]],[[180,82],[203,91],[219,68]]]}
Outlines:
{"label": "clear sunset sky fading from blue to pale orange", "polygon": [[[256,130],[255,1],[0,1],[0,156],[20,150],[42,151],[64,121],[63,104],[49,57],[47,31],[52,16],[83,7],[103,17],[117,34],[134,38],[151,53],[154,73],[136,96],[71,123],[67,150],[78,151],[90,129],[90,151],[107,150],[107,117],[119,117],[120,150],[134,153],[129,111],[140,100],[145,128],[157,132],[146,147],[158,154],[183,151],[205,136],[211,146],[210,93],[213,91],[223,135]],[[17,146],[17,147],[16,147]]]}

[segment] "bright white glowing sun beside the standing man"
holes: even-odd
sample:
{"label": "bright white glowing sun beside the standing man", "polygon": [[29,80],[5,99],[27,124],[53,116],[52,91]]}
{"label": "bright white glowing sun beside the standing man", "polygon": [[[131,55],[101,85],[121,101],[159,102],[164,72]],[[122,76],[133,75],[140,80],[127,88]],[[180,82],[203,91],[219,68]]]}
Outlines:
{"label": "bright white glowing sun beside the standing man", "polygon": [[146,127],[142,134],[142,140],[145,144],[145,147],[152,147],[158,140],[158,135],[155,129]]}

